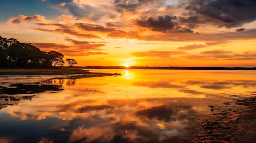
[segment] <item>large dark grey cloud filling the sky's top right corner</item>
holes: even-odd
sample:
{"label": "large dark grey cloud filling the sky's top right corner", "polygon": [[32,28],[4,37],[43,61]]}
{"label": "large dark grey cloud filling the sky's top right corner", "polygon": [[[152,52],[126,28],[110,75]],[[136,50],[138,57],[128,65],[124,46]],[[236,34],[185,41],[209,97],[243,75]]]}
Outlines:
{"label": "large dark grey cloud filling the sky's top right corner", "polygon": [[256,20],[255,0],[190,0],[185,9],[219,27],[238,27]]}

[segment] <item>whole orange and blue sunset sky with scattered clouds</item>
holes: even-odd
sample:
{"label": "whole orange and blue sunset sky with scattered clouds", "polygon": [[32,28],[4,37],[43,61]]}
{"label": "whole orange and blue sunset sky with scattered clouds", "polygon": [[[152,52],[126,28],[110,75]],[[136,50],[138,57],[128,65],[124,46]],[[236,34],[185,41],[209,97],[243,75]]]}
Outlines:
{"label": "whole orange and blue sunset sky with scattered clouds", "polygon": [[76,66],[256,67],[255,0],[1,0],[0,36]]}

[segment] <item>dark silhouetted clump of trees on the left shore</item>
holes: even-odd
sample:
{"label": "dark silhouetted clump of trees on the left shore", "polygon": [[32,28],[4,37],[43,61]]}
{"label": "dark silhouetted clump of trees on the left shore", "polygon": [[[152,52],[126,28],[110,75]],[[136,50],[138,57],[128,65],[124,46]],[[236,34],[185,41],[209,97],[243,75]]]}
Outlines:
{"label": "dark silhouetted clump of trees on the left shore", "polygon": [[[56,51],[41,51],[31,43],[20,43],[18,40],[0,36],[0,68],[54,68],[63,66],[64,55]],[[66,59],[69,68],[76,63],[75,59]]]}

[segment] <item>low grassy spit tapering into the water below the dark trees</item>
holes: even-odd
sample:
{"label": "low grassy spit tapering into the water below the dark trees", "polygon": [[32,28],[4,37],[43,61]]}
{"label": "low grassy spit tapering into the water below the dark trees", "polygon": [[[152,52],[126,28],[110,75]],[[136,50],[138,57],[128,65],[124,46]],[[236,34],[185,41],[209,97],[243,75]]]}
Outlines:
{"label": "low grassy spit tapering into the water below the dark trees", "polygon": [[117,76],[120,73],[94,73],[81,69],[0,69],[0,75],[72,75],[63,79],[78,79],[87,77]]}

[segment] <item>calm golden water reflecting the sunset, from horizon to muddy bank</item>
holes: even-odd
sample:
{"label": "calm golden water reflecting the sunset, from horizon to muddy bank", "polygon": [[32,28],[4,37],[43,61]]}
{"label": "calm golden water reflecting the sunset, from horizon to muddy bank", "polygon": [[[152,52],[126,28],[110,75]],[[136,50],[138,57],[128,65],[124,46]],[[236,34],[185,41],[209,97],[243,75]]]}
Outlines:
{"label": "calm golden water reflecting the sunset, from horizon to muddy bank", "polygon": [[193,139],[209,104],[255,92],[256,71],[99,70],[117,77],[0,76],[0,143]]}

